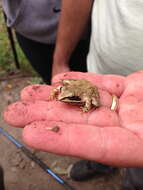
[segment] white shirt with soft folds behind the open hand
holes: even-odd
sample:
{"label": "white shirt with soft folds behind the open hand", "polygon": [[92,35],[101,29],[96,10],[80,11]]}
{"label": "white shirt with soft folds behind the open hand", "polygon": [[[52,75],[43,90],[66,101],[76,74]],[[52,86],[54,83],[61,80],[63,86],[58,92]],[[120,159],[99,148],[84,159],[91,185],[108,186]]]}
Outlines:
{"label": "white shirt with soft folds behind the open hand", "polygon": [[143,0],[95,0],[89,72],[128,75],[143,69]]}

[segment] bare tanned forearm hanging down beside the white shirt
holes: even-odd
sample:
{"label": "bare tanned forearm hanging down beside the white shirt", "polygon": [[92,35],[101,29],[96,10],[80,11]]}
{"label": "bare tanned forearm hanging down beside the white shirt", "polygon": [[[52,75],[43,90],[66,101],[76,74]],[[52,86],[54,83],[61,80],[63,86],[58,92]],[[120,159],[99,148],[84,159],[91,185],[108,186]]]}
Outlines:
{"label": "bare tanned forearm hanging down beside the white shirt", "polygon": [[54,60],[68,63],[89,21],[93,0],[62,0]]}

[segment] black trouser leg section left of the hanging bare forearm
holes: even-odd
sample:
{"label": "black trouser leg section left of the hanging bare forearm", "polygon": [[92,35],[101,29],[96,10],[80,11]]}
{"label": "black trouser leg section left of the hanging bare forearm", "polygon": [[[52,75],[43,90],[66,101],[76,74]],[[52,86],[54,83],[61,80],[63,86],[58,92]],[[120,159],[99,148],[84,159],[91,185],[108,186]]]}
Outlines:
{"label": "black trouser leg section left of the hanging bare forearm", "polygon": [[18,43],[35,71],[44,82],[51,83],[54,45],[39,43],[16,33]]}

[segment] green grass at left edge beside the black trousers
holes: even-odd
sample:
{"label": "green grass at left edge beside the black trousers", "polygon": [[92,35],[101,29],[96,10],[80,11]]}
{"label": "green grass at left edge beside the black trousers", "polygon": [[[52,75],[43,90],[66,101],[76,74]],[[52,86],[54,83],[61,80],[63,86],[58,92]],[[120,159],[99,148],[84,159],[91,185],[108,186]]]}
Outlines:
{"label": "green grass at left edge beside the black trousers", "polygon": [[[36,75],[32,67],[28,63],[28,60],[25,58],[22,50],[18,46],[16,39],[15,39],[15,44],[21,66],[20,72],[22,73],[28,72],[31,73],[32,75]],[[0,9],[0,75],[11,71],[16,72],[17,70],[14,64],[14,58],[7,35],[7,29],[3,18],[3,13],[2,10]]]}

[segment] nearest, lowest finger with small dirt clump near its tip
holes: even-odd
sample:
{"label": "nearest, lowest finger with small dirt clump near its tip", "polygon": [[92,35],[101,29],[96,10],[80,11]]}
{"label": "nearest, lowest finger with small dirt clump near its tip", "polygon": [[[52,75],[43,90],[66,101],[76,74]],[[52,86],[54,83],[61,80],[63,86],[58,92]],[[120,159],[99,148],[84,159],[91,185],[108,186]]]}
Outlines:
{"label": "nearest, lowest finger with small dirt clump near its tip", "polygon": [[[53,126],[58,126],[59,130],[49,130]],[[143,142],[134,133],[120,127],[36,122],[24,128],[23,138],[28,146],[46,152],[109,165],[143,166]]]}

